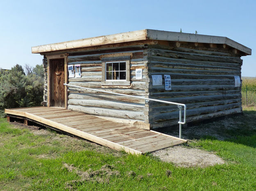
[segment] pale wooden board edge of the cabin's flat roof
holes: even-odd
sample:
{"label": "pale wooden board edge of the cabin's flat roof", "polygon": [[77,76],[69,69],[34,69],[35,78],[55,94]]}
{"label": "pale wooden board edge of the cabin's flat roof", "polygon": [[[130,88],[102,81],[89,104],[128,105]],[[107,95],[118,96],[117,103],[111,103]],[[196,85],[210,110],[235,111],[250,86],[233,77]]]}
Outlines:
{"label": "pale wooden board edge of the cabin's flat roof", "polygon": [[92,47],[104,44],[114,44],[120,42],[132,42],[137,40],[168,40],[179,42],[199,42],[211,44],[227,44],[230,47],[238,49],[243,53],[251,55],[251,49],[244,45],[222,36],[209,36],[191,33],[179,33],[170,31],[159,31],[152,29],[143,29],[139,31],[131,31],[118,33],[113,35],[98,36],[93,38],[84,38],[79,40],[70,40],[53,44],[39,45],[32,47],[32,53],[44,53],[50,51],[59,51],[66,49],[76,49],[83,47]]}

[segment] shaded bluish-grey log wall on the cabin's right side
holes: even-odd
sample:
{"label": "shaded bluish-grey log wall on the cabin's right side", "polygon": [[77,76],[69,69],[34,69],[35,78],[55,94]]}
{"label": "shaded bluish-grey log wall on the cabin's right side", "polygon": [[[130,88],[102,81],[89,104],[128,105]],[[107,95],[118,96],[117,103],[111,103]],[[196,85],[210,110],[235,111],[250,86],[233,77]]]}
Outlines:
{"label": "shaded bluish-grey log wall on the cabin's right side", "polygon": [[[242,60],[232,53],[175,47],[150,47],[148,71],[150,98],[187,105],[187,121],[204,120],[242,112],[241,87],[235,87],[234,76],[241,78]],[[172,90],[165,90],[164,74],[169,74]],[[163,85],[153,86],[152,75],[162,75]],[[152,128],[177,124],[177,106],[149,103]]]}

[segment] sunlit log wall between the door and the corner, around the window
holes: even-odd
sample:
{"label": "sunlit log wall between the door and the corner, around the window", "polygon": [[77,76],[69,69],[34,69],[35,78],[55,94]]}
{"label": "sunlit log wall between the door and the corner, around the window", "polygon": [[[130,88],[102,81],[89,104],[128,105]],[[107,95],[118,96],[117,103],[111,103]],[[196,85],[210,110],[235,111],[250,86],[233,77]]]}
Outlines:
{"label": "sunlit log wall between the door and the corner, around the window", "polygon": [[[102,86],[102,61],[106,54],[120,55],[130,53],[130,86]],[[116,47],[69,53],[68,65],[80,64],[81,78],[68,78],[68,84],[88,87],[134,96],[148,97],[147,49],[140,46]],[[143,69],[143,79],[135,77],[135,69]],[[96,93],[85,89],[68,87],[68,109],[131,124],[148,123],[148,105],[144,100],[116,96],[107,93]],[[149,125],[147,126],[149,127]]]}

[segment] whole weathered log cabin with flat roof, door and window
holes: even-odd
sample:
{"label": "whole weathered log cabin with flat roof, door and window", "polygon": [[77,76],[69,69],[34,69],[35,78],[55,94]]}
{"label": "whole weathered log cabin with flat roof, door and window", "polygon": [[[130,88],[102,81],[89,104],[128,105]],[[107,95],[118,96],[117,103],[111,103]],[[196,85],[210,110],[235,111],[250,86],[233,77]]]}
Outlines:
{"label": "whole weathered log cabin with flat roof, door and window", "polygon": [[156,129],[242,112],[241,56],[251,49],[227,37],[139,30],[32,47],[43,56],[44,104]]}

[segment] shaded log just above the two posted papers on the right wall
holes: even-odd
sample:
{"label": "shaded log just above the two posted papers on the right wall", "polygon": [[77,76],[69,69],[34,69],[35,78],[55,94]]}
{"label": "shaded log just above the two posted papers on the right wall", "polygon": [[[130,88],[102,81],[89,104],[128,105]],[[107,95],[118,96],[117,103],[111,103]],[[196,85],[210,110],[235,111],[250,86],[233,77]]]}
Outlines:
{"label": "shaded log just above the two posted papers on the right wall", "polygon": [[175,68],[164,68],[164,67],[152,67],[149,66],[149,71],[154,72],[161,72],[161,73],[188,73],[188,74],[204,74],[204,75],[233,75],[233,76],[240,76],[241,71],[223,71],[223,70],[196,70],[196,69],[175,69]]}

